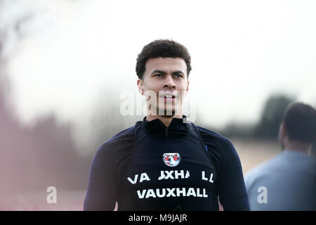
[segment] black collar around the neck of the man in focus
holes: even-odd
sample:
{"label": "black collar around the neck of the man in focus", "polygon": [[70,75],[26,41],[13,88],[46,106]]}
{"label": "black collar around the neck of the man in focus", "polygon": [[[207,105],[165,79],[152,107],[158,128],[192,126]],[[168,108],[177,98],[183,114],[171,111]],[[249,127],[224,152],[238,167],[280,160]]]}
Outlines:
{"label": "black collar around the neck of the man in focus", "polygon": [[187,117],[185,115],[182,118],[173,117],[169,127],[166,127],[158,118],[151,121],[147,121],[146,118],[143,118],[145,129],[159,139],[176,140],[187,134],[187,123],[185,122]]}

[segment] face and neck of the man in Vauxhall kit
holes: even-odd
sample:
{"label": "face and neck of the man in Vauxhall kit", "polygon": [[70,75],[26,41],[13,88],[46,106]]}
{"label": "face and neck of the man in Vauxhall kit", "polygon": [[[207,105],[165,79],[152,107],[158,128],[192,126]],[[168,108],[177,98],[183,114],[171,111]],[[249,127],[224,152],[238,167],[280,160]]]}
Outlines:
{"label": "face and neck of the man in Vauxhall kit", "polygon": [[150,113],[172,117],[182,116],[182,103],[189,89],[187,65],[183,58],[150,58],[145,65],[138,90],[146,96]]}

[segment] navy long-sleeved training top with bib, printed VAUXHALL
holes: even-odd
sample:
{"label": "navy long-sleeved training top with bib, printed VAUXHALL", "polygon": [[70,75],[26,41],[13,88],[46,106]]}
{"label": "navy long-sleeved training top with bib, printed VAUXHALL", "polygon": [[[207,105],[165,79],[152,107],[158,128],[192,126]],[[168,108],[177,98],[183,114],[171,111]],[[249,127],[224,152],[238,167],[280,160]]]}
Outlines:
{"label": "navy long-sleeved training top with bib, printed VAUXHALL", "polygon": [[136,122],[93,158],[84,210],[249,210],[230,140],[173,118]]}

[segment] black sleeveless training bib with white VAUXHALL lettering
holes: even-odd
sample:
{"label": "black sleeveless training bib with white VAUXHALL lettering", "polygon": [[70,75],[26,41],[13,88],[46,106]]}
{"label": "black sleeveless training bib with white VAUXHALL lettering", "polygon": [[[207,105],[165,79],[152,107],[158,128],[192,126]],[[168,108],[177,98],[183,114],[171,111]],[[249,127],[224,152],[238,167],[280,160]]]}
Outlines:
{"label": "black sleeveless training bib with white VAUXHALL lettering", "polygon": [[218,210],[216,169],[197,127],[162,141],[136,122],[133,155],[120,181],[118,210]]}

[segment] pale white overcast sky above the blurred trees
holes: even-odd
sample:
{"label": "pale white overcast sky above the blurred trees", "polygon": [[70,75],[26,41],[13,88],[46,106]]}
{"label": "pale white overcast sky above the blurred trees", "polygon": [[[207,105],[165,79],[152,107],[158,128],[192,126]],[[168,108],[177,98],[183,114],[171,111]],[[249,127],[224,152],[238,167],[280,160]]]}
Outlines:
{"label": "pale white overcast sky above the blurred trees", "polygon": [[24,124],[53,111],[85,127],[98,103],[138,96],[136,58],[154,39],[189,50],[189,95],[205,125],[256,122],[276,93],[316,106],[316,1],[23,2],[6,15],[39,12],[7,49],[9,99]]}

